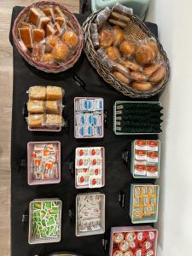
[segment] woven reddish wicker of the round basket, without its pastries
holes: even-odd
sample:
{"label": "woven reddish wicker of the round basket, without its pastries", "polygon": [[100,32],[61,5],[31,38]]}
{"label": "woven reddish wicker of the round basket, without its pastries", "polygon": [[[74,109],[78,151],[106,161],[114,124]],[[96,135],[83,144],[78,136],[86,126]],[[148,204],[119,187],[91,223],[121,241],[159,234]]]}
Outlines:
{"label": "woven reddish wicker of the round basket, without its pastries", "polygon": [[[59,6],[64,15],[68,17],[70,22],[73,25],[73,28],[75,32],[77,32],[79,36],[79,44],[76,49],[75,55],[73,55],[67,62],[62,63],[62,64],[44,64],[40,63],[38,61],[34,61],[32,59],[32,56],[27,55],[26,52],[21,48],[19,44],[19,33],[18,33],[18,27],[20,26],[20,22],[26,17],[27,12],[31,7],[42,7],[46,5],[51,5],[51,6]],[[32,3],[31,5],[27,6],[25,9],[23,9],[20,14],[17,16],[14,22],[14,26],[12,29],[13,33],[13,38],[15,42],[15,46],[20,52],[20,55],[33,67],[37,67],[38,69],[46,72],[46,73],[60,73],[62,71],[66,71],[68,68],[73,67],[73,65],[79,60],[79,56],[81,55],[82,49],[83,49],[83,32],[81,29],[81,26],[79,25],[79,21],[76,19],[76,17],[73,15],[72,12],[70,12],[66,7],[63,5],[56,3],[56,2],[49,2],[49,1],[42,1],[38,3]]]}

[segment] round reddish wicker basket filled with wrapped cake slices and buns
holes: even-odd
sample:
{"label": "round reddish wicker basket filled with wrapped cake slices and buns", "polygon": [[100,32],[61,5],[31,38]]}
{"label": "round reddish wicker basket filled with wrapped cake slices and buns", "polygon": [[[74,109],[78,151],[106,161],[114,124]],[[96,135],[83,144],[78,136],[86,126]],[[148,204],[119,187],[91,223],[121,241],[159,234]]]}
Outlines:
{"label": "round reddish wicker basket filled with wrapped cake slices and buns", "polygon": [[20,55],[47,73],[65,71],[79,60],[83,34],[76,17],[63,5],[38,2],[15,19],[13,38]]}

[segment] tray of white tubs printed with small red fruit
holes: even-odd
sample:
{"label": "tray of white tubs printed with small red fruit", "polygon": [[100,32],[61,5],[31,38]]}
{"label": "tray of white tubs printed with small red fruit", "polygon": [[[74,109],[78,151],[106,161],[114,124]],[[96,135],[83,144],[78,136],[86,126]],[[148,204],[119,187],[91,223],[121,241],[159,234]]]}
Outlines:
{"label": "tray of white tubs printed with small red fruit", "polygon": [[104,148],[76,148],[75,172],[77,189],[101,188],[104,185]]}

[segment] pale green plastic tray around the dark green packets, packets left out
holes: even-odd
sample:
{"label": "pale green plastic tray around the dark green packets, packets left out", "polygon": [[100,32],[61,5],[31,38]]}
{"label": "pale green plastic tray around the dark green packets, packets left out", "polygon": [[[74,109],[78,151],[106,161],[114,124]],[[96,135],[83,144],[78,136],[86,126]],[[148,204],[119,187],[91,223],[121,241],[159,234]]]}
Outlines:
{"label": "pale green plastic tray around the dark green packets, packets left out", "polygon": [[161,106],[161,102],[127,102],[127,101],[117,101],[117,102],[114,102],[114,105],[113,105],[113,132],[115,135],[142,135],[142,134],[159,134],[159,133],[128,133],[128,132],[120,132],[120,131],[116,131],[116,107],[117,107],[117,104],[119,103],[152,103],[152,104],[158,104]]}

